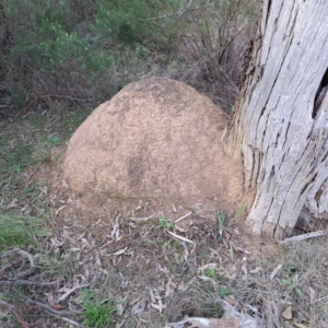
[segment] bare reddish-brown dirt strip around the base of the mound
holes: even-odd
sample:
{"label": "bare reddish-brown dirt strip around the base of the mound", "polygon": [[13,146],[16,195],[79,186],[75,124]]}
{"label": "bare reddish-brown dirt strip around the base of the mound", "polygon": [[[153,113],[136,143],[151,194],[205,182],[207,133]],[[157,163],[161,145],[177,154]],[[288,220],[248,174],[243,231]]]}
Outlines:
{"label": "bare reddish-brown dirt strip around the base of the mound", "polygon": [[[271,238],[254,236],[245,223],[249,207],[246,206],[236,220],[232,220],[242,208],[243,202],[230,203],[229,199],[220,195],[199,197],[195,202],[169,197],[126,197],[122,194],[106,190],[85,189],[77,191],[69,188],[63,178],[62,164],[66,157],[66,148],[54,150],[57,157],[56,166],[43,163],[37,166],[32,176],[45,190],[54,206],[54,224],[56,230],[79,227],[87,231],[102,245],[113,238],[110,234],[116,219],[124,224],[139,223],[149,226],[157,224],[163,218],[168,223],[175,223],[177,232],[192,241],[198,230],[206,234],[219,236],[216,212],[224,212],[225,224],[232,225],[229,241],[233,243],[236,258],[255,262],[258,258],[267,258],[278,251],[278,243]],[[248,196],[249,199],[249,196]],[[245,196],[247,201],[247,196]],[[214,237],[215,237],[214,236]],[[197,237],[198,238],[198,237]],[[117,248],[127,242],[121,238]],[[229,255],[230,244],[223,241]],[[226,269],[235,266],[226,261]],[[233,270],[235,270],[234,268]]]}

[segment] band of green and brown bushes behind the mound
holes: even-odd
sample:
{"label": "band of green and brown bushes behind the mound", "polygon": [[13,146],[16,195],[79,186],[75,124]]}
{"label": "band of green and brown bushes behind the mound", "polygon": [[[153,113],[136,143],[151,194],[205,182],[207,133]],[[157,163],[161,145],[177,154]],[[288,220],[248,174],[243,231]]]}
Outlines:
{"label": "band of green and brown bushes behind the mound", "polygon": [[239,36],[249,34],[255,3],[3,0],[0,105],[22,109],[56,101],[93,107],[136,80],[132,71],[151,54],[180,52],[208,81],[225,79],[235,95],[241,62],[232,58],[244,46]]}

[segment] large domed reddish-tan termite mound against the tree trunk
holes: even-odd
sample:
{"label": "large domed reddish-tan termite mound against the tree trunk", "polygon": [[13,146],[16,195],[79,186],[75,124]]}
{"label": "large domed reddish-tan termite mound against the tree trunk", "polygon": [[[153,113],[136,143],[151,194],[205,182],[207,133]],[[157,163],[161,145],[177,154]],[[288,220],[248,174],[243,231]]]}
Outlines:
{"label": "large domed reddish-tan termite mound against the tree trunk", "polygon": [[65,178],[77,190],[128,197],[236,200],[243,177],[241,163],[221,147],[226,119],[186,84],[157,78],[131,83],[72,136]]}

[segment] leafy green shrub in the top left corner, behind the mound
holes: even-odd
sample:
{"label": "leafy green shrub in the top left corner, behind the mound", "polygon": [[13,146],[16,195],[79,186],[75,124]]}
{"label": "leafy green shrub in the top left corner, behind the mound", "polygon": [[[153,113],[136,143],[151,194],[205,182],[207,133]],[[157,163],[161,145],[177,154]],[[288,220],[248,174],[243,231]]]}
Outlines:
{"label": "leafy green shrub in the top left corner, behind the mound", "polygon": [[97,37],[102,1],[86,1],[90,5],[81,10],[84,2],[4,1],[5,20],[12,22],[11,43],[1,54],[2,67],[11,68],[3,74],[9,107],[44,108],[54,102],[93,107],[117,92],[121,56],[108,48],[113,37]]}

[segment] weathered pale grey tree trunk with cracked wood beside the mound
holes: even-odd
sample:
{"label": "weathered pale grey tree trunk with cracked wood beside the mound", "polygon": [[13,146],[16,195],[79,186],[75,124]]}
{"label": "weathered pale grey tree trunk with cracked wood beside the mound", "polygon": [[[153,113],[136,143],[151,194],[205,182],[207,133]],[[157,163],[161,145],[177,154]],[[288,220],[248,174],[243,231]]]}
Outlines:
{"label": "weathered pale grey tree trunk with cracked wood beside the mound", "polygon": [[328,216],[327,68],[328,1],[265,0],[225,133],[256,189],[256,234],[283,237],[304,208]]}

